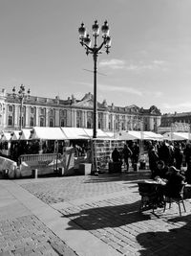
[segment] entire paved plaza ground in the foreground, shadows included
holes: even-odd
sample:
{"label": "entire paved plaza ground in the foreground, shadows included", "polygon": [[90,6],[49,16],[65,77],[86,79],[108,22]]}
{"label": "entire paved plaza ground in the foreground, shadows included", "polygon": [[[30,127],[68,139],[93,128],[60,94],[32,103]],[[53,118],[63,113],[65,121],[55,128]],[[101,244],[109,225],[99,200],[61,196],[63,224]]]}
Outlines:
{"label": "entire paved plaza ground in the foreground, shadows included", "polygon": [[189,199],[139,214],[149,175],[0,179],[0,255],[190,255]]}

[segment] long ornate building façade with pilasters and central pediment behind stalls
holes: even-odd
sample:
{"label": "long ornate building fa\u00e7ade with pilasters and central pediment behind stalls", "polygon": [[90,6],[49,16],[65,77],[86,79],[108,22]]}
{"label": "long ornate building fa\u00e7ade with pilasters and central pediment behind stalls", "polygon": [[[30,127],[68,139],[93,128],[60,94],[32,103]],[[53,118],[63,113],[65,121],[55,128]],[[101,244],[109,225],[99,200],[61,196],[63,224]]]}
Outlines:
{"label": "long ornate building fa\u00e7ade with pilasters and central pediment behind stalls", "polygon": [[[74,127],[93,128],[94,99],[87,93],[83,99],[74,96],[67,100],[31,96],[25,100],[20,114],[20,102],[5,89],[0,92],[0,129],[19,129],[32,127]],[[161,114],[153,105],[143,109],[137,105],[107,105],[106,100],[97,103],[97,128],[106,131],[153,130],[160,126]]]}

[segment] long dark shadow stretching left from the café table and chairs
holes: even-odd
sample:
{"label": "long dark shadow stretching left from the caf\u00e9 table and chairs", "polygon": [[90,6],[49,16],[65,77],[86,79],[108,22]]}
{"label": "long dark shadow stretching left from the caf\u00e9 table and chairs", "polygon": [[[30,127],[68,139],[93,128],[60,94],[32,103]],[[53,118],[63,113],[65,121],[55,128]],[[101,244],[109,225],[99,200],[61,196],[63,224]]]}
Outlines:
{"label": "long dark shadow stretching left from the caf\u00e9 table and chairs", "polygon": [[[87,207],[88,205],[86,205]],[[95,230],[106,227],[119,227],[138,221],[150,220],[150,215],[141,215],[138,213],[139,201],[130,204],[121,204],[116,206],[104,206],[75,211],[70,209],[68,214],[65,212],[63,218],[69,218],[70,227],[76,229],[76,223],[86,230]],[[62,213],[63,214],[63,213]]]}

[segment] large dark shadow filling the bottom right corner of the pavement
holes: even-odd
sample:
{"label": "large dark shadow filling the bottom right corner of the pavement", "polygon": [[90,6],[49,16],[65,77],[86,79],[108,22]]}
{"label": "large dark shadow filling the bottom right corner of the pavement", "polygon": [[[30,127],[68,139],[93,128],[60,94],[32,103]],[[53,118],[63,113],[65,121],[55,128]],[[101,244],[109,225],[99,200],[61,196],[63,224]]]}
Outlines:
{"label": "large dark shadow filling the bottom right corner of the pavement", "polygon": [[138,244],[143,247],[139,250],[140,255],[191,255],[191,215],[169,219],[168,222],[174,223],[175,228],[137,236]]}

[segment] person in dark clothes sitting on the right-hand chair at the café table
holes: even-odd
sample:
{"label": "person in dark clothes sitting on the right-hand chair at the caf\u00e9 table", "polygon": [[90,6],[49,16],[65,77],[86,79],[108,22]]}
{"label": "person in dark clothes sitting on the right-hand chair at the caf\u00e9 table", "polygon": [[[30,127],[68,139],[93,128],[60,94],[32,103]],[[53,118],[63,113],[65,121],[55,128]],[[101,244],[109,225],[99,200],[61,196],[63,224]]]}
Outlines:
{"label": "person in dark clothes sitting on the right-hand chair at the caf\u00e9 table", "polygon": [[174,166],[169,167],[167,175],[168,180],[164,187],[164,195],[168,198],[180,198],[185,177],[180,175],[180,171]]}

